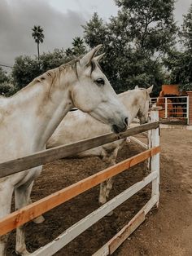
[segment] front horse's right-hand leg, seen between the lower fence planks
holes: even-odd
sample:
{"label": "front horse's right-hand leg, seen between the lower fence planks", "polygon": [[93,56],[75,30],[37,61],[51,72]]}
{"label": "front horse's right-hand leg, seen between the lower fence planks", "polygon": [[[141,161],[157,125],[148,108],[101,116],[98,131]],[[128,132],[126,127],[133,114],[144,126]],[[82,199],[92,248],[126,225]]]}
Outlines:
{"label": "front horse's right-hand leg, seen between the lower fence planks", "polygon": [[[22,185],[19,188],[15,188],[15,209],[19,210],[20,208],[28,205],[30,201],[30,194],[33,187],[33,183],[29,186]],[[26,249],[24,241],[24,225],[17,227],[16,229],[16,246],[15,251],[20,255],[29,255],[28,250]]]}

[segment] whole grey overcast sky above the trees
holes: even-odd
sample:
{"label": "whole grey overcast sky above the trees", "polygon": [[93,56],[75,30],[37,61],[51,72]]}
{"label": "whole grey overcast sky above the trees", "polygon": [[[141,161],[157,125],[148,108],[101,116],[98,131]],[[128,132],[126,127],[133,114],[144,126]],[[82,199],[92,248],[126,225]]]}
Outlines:
{"label": "whole grey overcast sky above the trees", "polygon": [[[192,0],[177,0],[175,16],[179,24]],[[0,0],[0,64],[14,64],[18,55],[36,55],[32,38],[34,24],[44,29],[45,41],[40,51],[71,46],[72,38],[81,36],[94,11],[107,20],[116,15],[113,0]]]}

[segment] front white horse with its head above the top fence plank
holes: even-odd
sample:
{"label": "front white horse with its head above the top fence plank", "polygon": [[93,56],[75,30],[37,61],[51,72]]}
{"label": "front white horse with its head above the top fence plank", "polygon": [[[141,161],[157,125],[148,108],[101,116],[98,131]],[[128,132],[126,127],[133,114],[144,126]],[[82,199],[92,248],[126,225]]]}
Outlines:
{"label": "front white horse with its head above the top fence plank", "polygon": [[[45,149],[60,121],[74,107],[115,132],[126,130],[127,111],[99,68],[99,57],[94,58],[100,46],[35,78],[11,98],[0,98],[0,162]],[[41,166],[0,179],[0,218],[11,212],[14,191],[15,209],[28,205],[33,181],[40,173]],[[6,255],[6,243],[7,236],[1,236],[1,256]],[[24,227],[17,228],[15,250],[29,254]]]}

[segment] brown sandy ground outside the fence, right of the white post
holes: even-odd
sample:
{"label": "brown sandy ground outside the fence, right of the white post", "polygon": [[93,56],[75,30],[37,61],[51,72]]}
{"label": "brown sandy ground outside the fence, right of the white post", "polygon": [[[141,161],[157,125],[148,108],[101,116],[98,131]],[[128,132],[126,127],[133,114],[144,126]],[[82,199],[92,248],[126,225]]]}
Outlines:
{"label": "brown sandy ground outside the fence, right of the white post", "polygon": [[192,255],[192,131],[161,130],[160,204],[115,253]]}

